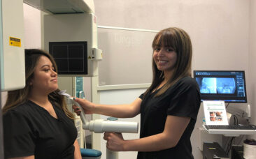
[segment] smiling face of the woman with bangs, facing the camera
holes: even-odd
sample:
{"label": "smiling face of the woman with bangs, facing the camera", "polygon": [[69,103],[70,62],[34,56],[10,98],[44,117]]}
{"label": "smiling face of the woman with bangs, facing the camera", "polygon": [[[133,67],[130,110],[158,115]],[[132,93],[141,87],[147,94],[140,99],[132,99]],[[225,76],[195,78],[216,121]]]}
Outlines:
{"label": "smiling face of the woman with bangs, facing the camera", "polygon": [[167,73],[173,71],[177,61],[177,53],[169,46],[155,46],[153,59],[158,70]]}

